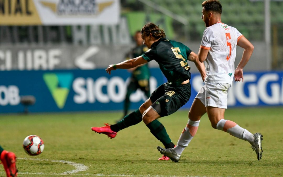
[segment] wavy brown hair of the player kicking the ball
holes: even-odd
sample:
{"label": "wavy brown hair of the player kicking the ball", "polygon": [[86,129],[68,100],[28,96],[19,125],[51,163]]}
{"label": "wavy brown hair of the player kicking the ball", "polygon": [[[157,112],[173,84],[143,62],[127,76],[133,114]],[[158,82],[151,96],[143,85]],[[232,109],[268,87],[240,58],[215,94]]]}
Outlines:
{"label": "wavy brown hair of the player kicking the ball", "polygon": [[159,26],[154,23],[148,23],[141,29],[141,36],[149,36],[149,34],[152,34],[156,39],[166,36],[164,30],[160,29]]}

